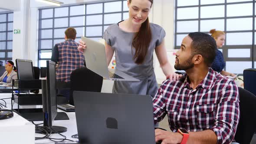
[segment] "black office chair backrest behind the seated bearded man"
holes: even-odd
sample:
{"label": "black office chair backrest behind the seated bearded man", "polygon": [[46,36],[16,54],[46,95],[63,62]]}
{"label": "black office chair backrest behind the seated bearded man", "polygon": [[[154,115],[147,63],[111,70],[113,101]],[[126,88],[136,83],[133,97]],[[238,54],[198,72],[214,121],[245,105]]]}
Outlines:
{"label": "black office chair backrest behind the seated bearded man", "polygon": [[240,120],[237,126],[235,141],[250,144],[256,130],[256,96],[239,87]]}

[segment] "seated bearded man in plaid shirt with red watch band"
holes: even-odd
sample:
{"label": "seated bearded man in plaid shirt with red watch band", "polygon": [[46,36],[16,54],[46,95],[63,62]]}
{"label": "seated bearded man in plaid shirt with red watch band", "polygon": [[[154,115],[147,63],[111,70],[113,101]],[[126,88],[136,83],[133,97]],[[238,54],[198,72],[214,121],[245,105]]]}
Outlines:
{"label": "seated bearded man in plaid shirt with red watch band", "polygon": [[210,68],[216,49],[215,40],[205,33],[189,33],[183,39],[174,67],[187,74],[176,82],[164,81],[153,99],[154,123],[167,115],[173,132],[156,129],[156,141],[162,144],[233,141],[240,115],[238,88],[232,79]]}

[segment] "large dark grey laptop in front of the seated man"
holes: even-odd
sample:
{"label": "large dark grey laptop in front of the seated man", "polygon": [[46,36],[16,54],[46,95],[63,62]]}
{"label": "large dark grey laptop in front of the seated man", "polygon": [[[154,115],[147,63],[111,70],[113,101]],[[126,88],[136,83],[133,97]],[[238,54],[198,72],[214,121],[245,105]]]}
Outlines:
{"label": "large dark grey laptop in front of the seated man", "polygon": [[73,95],[79,144],[156,144],[150,95]]}

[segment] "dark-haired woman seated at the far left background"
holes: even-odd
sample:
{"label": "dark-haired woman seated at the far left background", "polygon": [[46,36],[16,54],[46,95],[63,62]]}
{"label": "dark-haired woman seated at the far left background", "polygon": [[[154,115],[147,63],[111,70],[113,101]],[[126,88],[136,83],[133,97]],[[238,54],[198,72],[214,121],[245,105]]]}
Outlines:
{"label": "dark-haired woman seated at the far left background", "polygon": [[17,79],[16,67],[14,66],[14,63],[8,60],[5,64],[5,70],[6,71],[3,72],[3,75],[0,77],[0,83],[7,86],[12,86],[13,79]]}

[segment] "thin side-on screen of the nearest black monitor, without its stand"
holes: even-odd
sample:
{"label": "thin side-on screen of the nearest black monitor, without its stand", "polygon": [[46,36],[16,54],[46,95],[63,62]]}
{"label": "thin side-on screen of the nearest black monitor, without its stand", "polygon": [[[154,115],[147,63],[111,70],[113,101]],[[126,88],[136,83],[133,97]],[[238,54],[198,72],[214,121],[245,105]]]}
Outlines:
{"label": "thin side-on screen of the nearest black monitor, without its stand", "polygon": [[53,124],[53,120],[57,115],[55,62],[46,61],[46,65],[46,78],[48,90],[48,116],[49,126],[51,127]]}

